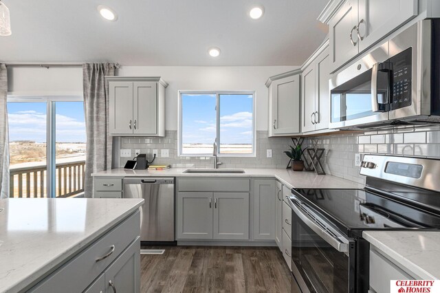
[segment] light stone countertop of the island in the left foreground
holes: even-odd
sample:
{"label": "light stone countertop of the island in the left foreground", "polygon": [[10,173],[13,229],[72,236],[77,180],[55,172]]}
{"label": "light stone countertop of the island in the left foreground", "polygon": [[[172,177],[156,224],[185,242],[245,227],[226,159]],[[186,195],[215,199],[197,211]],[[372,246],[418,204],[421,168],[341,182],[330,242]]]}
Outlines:
{"label": "light stone countertop of the island in the left foreground", "polygon": [[25,289],[133,213],[144,199],[0,199],[0,292]]}

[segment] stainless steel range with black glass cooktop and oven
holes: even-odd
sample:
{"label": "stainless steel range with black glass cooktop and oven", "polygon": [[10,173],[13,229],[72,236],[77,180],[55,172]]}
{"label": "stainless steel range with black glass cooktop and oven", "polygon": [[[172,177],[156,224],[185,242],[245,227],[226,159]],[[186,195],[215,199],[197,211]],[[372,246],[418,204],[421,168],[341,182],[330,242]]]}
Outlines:
{"label": "stainless steel range with black glass cooktop and oven", "polygon": [[292,270],[303,292],[368,292],[364,230],[439,230],[440,160],[365,155],[364,189],[292,189]]}

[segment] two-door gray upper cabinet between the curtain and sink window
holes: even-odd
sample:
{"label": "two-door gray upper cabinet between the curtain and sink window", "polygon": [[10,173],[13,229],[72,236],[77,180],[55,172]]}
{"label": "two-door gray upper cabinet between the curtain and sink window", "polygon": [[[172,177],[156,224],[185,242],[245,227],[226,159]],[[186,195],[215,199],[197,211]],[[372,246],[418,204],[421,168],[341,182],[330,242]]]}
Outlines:
{"label": "two-door gray upper cabinet between the curtain and sink window", "polygon": [[165,88],[162,78],[107,77],[111,135],[165,135]]}

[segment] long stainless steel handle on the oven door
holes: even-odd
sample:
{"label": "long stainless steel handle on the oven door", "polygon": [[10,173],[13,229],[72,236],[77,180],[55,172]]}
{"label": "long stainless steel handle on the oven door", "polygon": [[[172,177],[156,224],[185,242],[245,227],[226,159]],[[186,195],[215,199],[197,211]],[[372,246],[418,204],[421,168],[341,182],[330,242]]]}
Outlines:
{"label": "long stainless steel handle on the oven door", "polygon": [[[298,199],[296,201],[299,202]],[[306,215],[303,213],[297,206],[292,202],[292,200],[289,200],[289,206],[294,210],[294,213],[301,219],[301,221],[304,222],[311,230],[314,230],[314,232],[324,239],[327,243],[329,243],[333,248],[338,250],[339,252],[349,252],[349,241],[345,239],[344,237],[333,237],[330,235],[326,230],[322,229],[318,224],[313,221],[309,215]]]}

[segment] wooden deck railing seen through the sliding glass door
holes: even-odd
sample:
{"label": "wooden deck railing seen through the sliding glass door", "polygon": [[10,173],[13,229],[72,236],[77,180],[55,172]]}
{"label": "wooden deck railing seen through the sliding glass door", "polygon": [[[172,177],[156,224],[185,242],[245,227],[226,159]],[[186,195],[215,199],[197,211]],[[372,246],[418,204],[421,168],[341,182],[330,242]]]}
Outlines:
{"label": "wooden deck railing seen through the sliding glass door", "polygon": [[[46,166],[10,169],[10,197],[47,197]],[[71,197],[84,192],[85,161],[56,164],[55,195]]]}

